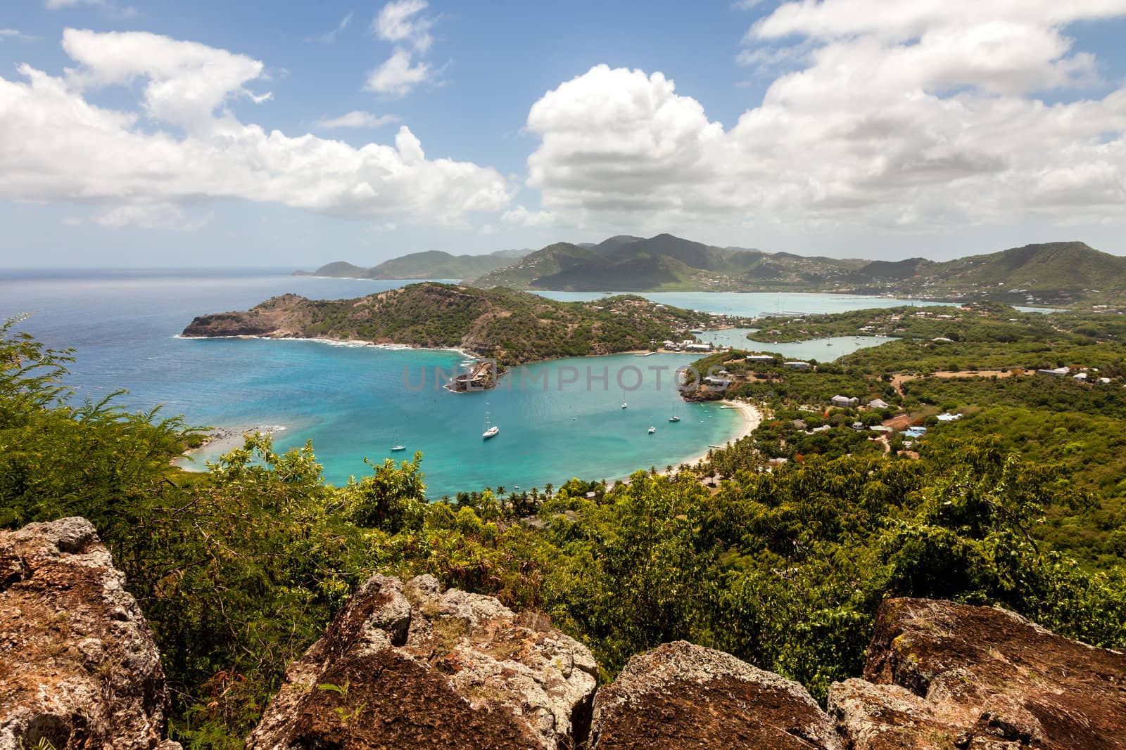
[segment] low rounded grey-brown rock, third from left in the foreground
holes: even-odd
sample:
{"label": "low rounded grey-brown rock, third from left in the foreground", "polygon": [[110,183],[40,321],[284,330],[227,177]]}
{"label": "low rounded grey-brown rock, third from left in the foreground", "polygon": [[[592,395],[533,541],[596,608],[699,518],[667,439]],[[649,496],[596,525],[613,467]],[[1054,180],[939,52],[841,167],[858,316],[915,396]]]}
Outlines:
{"label": "low rounded grey-brown rock, third from left in the foreground", "polygon": [[685,641],[636,656],[598,692],[593,750],[839,750],[804,687]]}

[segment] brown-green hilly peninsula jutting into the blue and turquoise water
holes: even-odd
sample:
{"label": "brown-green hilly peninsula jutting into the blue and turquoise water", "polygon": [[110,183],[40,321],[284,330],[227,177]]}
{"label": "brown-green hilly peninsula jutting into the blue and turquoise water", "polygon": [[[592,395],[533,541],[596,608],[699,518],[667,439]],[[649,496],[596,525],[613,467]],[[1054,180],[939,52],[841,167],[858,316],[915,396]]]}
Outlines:
{"label": "brown-green hilly peninsula jutting into the blue and turquoise water", "polygon": [[422,282],[341,300],[283,295],[244,311],[195,318],[186,337],[330,338],[461,349],[510,367],[564,356],[652,350],[691,338],[723,316],[623,295],[560,302],[512,289]]}

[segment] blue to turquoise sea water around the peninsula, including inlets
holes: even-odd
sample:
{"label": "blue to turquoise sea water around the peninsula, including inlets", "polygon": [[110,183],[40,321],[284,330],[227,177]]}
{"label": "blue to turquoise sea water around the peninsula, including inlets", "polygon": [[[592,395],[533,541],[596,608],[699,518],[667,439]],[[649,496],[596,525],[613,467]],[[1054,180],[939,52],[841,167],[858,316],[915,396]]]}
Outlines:
{"label": "blue to turquoise sea water around the peninsula, including inlets", "polygon": [[[235,431],[284,427],[275,433],[276,446],[285,450],[312,440],[332,482],[363,476],[365,458],[409,458],[419,450],[430,497],[497,485],[542,488],[573,476],[620,478],[698,457],[741,427],[735,410],[680,401],[672,372],[691,362],[691,355],[535,364],[513,369],[488,394],[453,394],[439,387],[436,373],[449,373],[463,360],[452,351],[177,337],[196,315],[245,309],[274,295],[347,298],[401,283],[261,269],[0,271],[0,317],[30,314],[20,329],[48,346],[75,350],[69,385],[78,399],[126,388],[122,403],[134,409],[163,404],[166,413],[184,414],[193,424]],[[748,316],[904,304],[833,295],[650,296]],[[740,343],[744,333],[716,332],[705,338]],[[833,359],[875,343],[849,337],[769,349],[787,356]],[[620,408],[623,399],[626,409]],[[482,441],[486,410],[501,432]],[[674,410],[681,421],[670,423]],[[650,426],[656,433],[649,434]],[[391,453],[396,443],[408,450]],[[200,452],[196,466],[225,448]]]}

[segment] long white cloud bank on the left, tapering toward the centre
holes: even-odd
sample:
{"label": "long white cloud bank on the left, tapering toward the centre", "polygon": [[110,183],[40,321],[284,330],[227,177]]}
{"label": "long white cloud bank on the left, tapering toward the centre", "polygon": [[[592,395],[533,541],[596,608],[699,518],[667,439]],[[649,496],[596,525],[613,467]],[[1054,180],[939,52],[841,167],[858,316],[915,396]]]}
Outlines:
{"label": "long white cloud bank on the left, tapering toward the centre", "polygon": [[[77,65],[52,75],[21,65],[0,76],[0,198],[86,201],[106,226],[168,226],[185,207],[235,199],[345,217],[465,225],[498,211],[508,187],[492,169],[427,159],[404,126],[394,145],[354,148],[242,123],[232,102],[262,102],[262,63],[145,33],[66,29]],[[138,91],[135,109],[91,101]]]}

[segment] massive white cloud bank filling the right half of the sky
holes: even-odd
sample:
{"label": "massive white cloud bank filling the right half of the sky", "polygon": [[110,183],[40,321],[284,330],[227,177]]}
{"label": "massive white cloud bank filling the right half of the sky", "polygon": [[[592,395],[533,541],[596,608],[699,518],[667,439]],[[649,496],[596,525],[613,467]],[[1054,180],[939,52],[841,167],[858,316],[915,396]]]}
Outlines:
{"label": "massive white cloud bank filling the right half of the sky", "polygon": [[[748,33],[748,62],[799,69],[733,126],[661,73],[596,66],[531,107],[528,184],[572,222],[929,229],[1126,216],[1126,89],[1082,98],[1097,61],[1065,36],[1069,22],[1124,15],[1126,0],[785,3]],[[756,57],[758,44],[774,52]]]}

